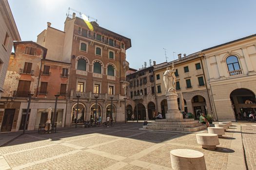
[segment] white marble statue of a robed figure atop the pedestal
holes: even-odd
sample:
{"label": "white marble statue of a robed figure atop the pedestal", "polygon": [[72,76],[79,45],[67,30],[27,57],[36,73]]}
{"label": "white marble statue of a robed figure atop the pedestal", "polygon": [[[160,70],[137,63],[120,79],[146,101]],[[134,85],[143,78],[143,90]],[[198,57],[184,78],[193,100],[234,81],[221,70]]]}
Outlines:
{"label": "white marble statue of a robed figure atop the pedestal", "polygon": [[166,93],[176,92],[176,76],[174,70],[174,63],[172,69],[169,67],[166,68],[166,71],[163,74],[163,81],[166,88]]}

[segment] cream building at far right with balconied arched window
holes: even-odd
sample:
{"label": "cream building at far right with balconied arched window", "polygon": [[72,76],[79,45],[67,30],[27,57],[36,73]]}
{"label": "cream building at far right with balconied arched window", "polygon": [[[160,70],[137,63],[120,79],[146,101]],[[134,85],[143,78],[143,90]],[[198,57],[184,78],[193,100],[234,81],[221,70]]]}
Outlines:
{"label": "cream building at far right with balconied arched window", "polygon": [[246,120],[256,113],[256,34],[202,50],[202,55],[217,119]]}

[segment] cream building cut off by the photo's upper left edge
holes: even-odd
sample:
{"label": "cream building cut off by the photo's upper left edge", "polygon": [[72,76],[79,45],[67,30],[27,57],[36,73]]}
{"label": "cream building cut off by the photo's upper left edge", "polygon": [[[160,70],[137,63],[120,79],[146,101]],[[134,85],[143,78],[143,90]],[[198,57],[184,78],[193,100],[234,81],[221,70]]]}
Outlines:
{"label": "cream building cut off by the photo's upper left edge", "polygon": [[[14,21],[7,0],[0,0],[0,98],[4,91],[3,84],[8,68],[13,41],[20,41],[16,23]],[[0,111],[1,112],[1,111]]]}

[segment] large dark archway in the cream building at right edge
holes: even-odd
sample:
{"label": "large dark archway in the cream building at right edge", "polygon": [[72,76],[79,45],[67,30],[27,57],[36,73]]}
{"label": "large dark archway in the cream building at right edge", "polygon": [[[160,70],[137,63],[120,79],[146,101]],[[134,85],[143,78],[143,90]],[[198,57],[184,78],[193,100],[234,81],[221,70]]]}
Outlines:
{"label": "large dark archway in the cream building at right edge", "polygon": [[249,120],[249,114],[256,113],[256,97],[254,92],[240,88],[230,93],[230,100],[236,120]]}

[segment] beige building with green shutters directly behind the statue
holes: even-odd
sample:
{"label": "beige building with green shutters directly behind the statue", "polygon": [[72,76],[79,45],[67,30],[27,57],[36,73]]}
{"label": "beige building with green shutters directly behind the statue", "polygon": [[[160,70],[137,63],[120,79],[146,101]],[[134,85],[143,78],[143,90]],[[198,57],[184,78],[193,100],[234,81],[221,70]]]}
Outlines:
{"label": "beige building with green shutters directly behind the statue", "polygon": [[[172,69],[172,64],[173,62],[165,62],[154,66],[157,94],[156,102],[158,112],[161,112],[163,116],[167,112],[166,89],[163,82],[163,74],[167,67]],[[178,104],[180,93],[182,93],[185,103],[185,112],[194,114],[195,118],[199,118],[200,113],[213,113],[210,87],[204,75],[205,64],[200,52],[184,57],[178,54],[178,59],[174,61],[174,67],[176,69],[175,75],[177,78],[176,89]]]}

